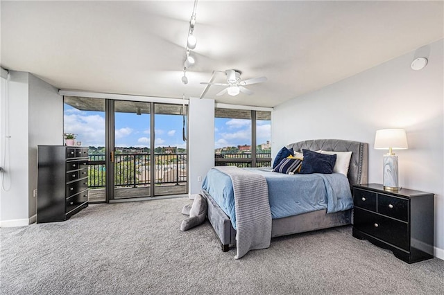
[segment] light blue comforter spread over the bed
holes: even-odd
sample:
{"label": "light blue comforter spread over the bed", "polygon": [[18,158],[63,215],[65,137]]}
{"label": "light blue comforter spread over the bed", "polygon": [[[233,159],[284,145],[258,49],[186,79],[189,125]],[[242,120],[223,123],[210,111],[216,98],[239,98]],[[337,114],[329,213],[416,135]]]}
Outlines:
{"label": "light blue comforter spread over the bed", "polygon": [[[268,184],[268,201],[273,219],[327,209],[327,213],[353,207],[350,184],[340,173],[287,175],[271,168],[242,168],[263,175]],[[236,229],[234,191],[230,176],[212,168],[203,180],[202,188],[230,217]]]}

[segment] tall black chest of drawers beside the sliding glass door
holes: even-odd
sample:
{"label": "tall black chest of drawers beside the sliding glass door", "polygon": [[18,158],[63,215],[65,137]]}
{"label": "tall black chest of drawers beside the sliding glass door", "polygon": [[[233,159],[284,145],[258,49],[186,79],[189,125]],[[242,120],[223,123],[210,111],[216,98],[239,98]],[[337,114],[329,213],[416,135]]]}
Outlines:
{"label": "tall black chest of drawers beside the sliding glass door", "polygon": [[38,146],[37,223],[59,222],[88,206],[88,148]]}

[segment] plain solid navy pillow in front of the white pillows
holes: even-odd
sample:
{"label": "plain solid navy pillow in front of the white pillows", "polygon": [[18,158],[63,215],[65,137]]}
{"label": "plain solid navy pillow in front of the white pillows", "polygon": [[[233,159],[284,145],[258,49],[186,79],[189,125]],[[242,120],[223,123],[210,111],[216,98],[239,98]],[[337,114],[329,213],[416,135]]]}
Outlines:
{"label": "plain solid navy pillow in front of the white pillows", "polygon": [[300,174],[333,173],[336,154],[320,154],[311,150],[302,150],[302,153],[304,154],[304,161],[302,161]]}

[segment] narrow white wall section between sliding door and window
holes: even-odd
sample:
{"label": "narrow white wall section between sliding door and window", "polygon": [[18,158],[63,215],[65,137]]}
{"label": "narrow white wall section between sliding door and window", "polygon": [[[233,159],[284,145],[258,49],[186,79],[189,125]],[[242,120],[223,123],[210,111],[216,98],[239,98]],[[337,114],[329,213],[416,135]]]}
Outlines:
{"label": "narrow white wall section between sliding door and window", "polygon": [[200,193],[203,178],[214,166],[214,100],[190,98],[188,123],[189,195],[191,196]]}

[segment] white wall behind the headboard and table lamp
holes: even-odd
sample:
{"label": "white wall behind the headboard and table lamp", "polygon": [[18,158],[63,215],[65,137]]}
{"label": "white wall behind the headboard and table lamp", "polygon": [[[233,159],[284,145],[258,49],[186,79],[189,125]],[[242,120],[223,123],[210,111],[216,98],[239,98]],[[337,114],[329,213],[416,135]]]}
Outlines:
{"label": "white wall behind the headboard and table lamp", "polygon": [[[370,183],[382,183],[382,155],[375,150],[377,129],[406,129],[409,150],[399,157],[400,186],[435,194],[435,256],[444,259],[444,91],[443,39],[294,98],[272,114],[273,157],[288,143],[338,138],[369,144]],[[429,64],[410,69],[414,57]]]}

